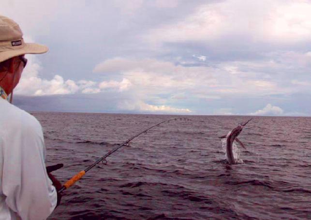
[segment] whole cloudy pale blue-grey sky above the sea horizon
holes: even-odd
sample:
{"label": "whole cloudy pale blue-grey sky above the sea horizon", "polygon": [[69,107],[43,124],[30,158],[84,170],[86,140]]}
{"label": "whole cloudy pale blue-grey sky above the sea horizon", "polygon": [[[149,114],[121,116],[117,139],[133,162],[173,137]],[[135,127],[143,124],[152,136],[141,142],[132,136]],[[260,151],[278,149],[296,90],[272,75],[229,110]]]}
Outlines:
{"label": "whole cloudy pale blue-grey sky above the sea horizon", "polygon": [[310,0],[0,0],[32,111],[311,116]]}

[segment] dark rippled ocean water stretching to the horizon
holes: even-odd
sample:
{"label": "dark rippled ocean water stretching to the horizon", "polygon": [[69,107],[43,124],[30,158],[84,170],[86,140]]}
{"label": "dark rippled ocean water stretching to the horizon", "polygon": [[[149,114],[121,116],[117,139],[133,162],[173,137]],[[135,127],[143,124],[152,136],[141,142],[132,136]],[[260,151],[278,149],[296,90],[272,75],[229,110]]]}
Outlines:
{"label": "dark rippled ocean water stretching to the horizon", "polygon": [[[32,113],[46,164],[66,181],[136,133],[172,115]],[[185,116],[155,127],[66,190],[49,220],[311,219],[311,118],[254,117],[236,165],[222,142],[246,116]]]}

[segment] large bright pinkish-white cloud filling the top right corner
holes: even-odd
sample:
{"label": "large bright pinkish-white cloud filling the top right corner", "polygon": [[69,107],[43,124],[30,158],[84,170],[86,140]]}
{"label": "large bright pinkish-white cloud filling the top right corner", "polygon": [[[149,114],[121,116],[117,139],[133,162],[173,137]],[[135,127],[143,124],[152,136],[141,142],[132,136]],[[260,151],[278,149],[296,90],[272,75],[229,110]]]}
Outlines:
{"label": "large bright pinkish-white cloud filling the top right corner", "polygon": [[201,5],[192,15],[154,28],[143,38],[155,44],[205,42],[208,45],[219,40],[225,42],[228,36],[242,36],[249,43],[295,44],[311,39],[310,11],[308,1],[225,0]]}

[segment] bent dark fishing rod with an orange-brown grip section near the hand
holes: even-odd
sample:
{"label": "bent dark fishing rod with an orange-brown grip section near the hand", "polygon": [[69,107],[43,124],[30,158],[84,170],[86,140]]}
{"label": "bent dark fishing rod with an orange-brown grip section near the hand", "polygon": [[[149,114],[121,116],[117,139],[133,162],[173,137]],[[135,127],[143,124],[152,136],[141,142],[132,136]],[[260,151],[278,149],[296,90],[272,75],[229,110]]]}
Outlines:
{"label": "bent dark fishing rod with an orange-brown grip section near the hand", "polygon": [[[96,164],[100,163],[100,162],[104,162],[106,161],[107,163],[107,160],[106,160],[106,157],[108,157],[109,155],[113,154],[114,152],[116,152],[119,148],[123,147],[123,146],[129,146],[129,142],[132,141],[134,138],[137,138],[139,135],[141,134],[144,134],[144,133],[147,133],[148,130],[150,130],[151,128],[155,127],[155,126],[159,126],[165,122],[169,122],[169,121],[172,121],[172,120],[177,120],[177,119],[186,119],[186,118],[172,118],[172,119],[169,119],[169,120],[165,120],[163,122],[160,122],[154,126],[151,126],[149,128],[147,128],[146,130],[143,130],[142,132],[134,135],[133,137],[129,138],[128,140],[124,141],[123,143],[119,144],[118,147],[114,148],[113,150],[109,151],[107,154],[105,154],[103,157],[99,158],[98,160],[96,160],[93,164],[91,164],[87,169],[83,170],[83,171],[80,171],[79,173],[75,174],[70,180],[68,180],[62,187],[61,189],[59,189],[59,192],[62,192],[64,191],[65,189],[68,189],[69,187],[71,187],[72,185],[74,185],[74,183],[76,181],[78,181],[79,179],[82,178],[82,176],[84,176],[85,173],[87,173],[90,169],[92,169]],[[189,119],[188,119],[189,120]],[[105,163],[105,164],[106,164]]]}

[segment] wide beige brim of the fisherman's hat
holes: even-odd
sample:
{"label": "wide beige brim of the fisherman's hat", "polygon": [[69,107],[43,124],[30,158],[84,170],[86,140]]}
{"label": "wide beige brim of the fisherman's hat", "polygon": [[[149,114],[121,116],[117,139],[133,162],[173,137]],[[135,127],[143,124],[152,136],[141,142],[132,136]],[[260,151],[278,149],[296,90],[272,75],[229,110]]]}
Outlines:
{"label": "wide beige brim of the fisherman's hat", "polygon": [[46,53],[47,51],[48,47],[44,45],[36,43],[25,43],[25,46],[22,48],[2,51],[0,53],[0,62],[23,54],[41,54]]}

